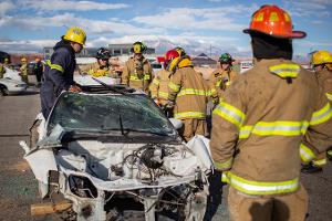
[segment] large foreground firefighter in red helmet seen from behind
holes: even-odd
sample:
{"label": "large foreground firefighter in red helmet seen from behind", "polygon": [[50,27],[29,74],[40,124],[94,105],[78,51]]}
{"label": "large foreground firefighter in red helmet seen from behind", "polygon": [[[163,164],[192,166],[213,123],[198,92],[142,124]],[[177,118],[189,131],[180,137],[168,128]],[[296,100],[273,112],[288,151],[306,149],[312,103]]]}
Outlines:
{"label": "large foreground firefighter in red helmet seen from behind", "polygon": [[210,139],[215,167],[230,185],[230,218],[303,221],[300,161],[332,144],[332,108],[317,77],[291,61],[292,39],[305,33],[292,30],[287,11],[262,6],[243,32],[257,63],[215,108]]}

